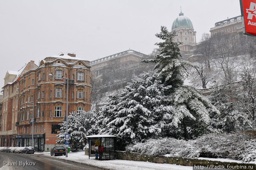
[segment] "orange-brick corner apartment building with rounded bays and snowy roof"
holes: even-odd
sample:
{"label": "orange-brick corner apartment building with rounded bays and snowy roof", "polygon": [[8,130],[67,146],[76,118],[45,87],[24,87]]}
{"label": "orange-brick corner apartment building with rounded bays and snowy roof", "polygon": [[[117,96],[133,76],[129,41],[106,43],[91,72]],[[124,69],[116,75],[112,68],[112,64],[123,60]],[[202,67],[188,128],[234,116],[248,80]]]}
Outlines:
{"label": "orange-brick corner apartment building with rounded bays and snowy roof", "polygon": [[[46,57],[37,68],[24,72],[18,80],[18,104],[15,103],[18,116],[14,123],[13,145],[31,146],[32,133],[36,151],[46,151],[47,147],[51,149],[56,145],[59,124],[66,120],[67,113],[67,80],[62,77],[69,78],[68,113],[91,109],[89,61],[70,53]],[[34,127],[31,123],[33,105]]]}

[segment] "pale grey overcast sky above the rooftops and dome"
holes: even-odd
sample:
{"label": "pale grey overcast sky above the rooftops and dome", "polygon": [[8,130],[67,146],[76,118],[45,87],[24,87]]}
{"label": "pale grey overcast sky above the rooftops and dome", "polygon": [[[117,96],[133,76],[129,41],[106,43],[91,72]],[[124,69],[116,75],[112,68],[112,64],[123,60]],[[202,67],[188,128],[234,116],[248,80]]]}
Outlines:
{"label": "pale grey overcast sky above the rooftops and dome", "polygon": [[241,15],[239,0],[0,0],[0,87],[7,70],[60,52],[89,61],[129,48],[149,54],[180,6],[197,42],[214,23]]}

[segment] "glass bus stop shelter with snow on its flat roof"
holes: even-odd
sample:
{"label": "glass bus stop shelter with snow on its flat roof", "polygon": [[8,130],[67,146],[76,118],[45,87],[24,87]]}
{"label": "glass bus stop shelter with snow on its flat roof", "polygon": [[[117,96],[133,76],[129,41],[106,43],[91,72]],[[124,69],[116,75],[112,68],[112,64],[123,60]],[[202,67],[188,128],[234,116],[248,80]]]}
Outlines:
{"label": "glass bus stop shelter with snow on its flat roof", "polygon": [[101,146],[103,144],[104,151],[102,160],[115,159],[115,137],[114,135],[90,135],[86,136],[89,140],[89,159],[95,157],[94,145]]}

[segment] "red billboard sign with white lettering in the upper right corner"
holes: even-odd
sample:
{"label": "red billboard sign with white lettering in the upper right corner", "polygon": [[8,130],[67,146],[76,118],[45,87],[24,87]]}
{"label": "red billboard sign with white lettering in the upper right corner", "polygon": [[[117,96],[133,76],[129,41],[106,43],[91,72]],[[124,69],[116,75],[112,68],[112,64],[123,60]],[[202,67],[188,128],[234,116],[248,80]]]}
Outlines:
{"label": "red billboard sign with white lettering in the upper right corner", "polygon": [[244,34],[256,35],[256,0],[240,0]]}

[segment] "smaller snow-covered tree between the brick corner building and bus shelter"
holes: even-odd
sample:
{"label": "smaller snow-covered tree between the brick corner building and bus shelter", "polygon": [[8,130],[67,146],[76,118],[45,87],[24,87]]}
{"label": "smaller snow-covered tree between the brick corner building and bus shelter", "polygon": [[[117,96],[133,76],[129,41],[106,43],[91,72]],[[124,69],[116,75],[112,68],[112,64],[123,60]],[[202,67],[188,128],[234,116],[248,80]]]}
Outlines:
{"label": "smaller snow-covered tree between the brick corner building and bus shelter", "polygon": [[[68,115],[68,134],[69,134],[69,145],[71,151],[78,151],[83,148],[83,142],[86,141],[86,136],[93,135],[97,129],[92,127],[95,123],[96,114],[93,111],[89,112],[72,112]],[[66,122],[60,124],[60,133],[57,136],[58,144],[65,143],[66,134]]]}

